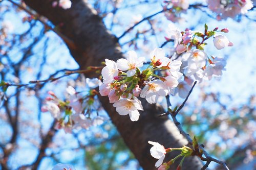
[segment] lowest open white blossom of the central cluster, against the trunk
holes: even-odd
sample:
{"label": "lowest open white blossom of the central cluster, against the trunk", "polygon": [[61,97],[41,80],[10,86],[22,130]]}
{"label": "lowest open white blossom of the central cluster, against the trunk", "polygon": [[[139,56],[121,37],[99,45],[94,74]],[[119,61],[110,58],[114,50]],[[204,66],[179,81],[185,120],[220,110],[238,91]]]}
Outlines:
{"label": "lowest open white blossom of the central cluster, against the trunk", "polygon": [[139,119],[140,113],[138,110],[143,111],[141,102],[136,97],[134,99],[122,98],[115,102],[113,106],[116,107],[116,111],[120,115],[129,114],[133,122]]}

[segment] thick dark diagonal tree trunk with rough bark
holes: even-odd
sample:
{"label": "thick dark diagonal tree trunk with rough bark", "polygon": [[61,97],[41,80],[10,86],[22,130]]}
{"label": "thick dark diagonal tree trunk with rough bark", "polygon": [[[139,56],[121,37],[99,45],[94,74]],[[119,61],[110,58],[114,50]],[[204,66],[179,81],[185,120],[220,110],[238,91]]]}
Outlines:
{"label": "thick dark diagonal tree trunk with rough bark", "polygon": [[[70,52],[81,68],[98,66],[105,58],[116,61],[122,58],[121,48],[116,38],[103,25],[101,18],[86,1],[74,0],[68,10],[52,8],[52,1],[25,0],[25,3],[41,15],[49,18],[55,26],[74,44],[67,43]],[[67,41],[66,41],[67,42]],[[181,147],[187,140],[179,133],[171,120],[158,117],[163,113],[155,105],[144,105],[138,122],[132,122],[129,116],[120,116],[106,97],[100,98],[103,107],[109,113],[127,147],[134,153],[143,169],[155,168],[156,159],[150,155],[148,140],[162,143],[165,147]],[[167,155],[167,158],[173,155]],[[172,166],[172,169],[176,169]],[[200,169],[201,161],[197,157],[187,158],[183,169]]]}

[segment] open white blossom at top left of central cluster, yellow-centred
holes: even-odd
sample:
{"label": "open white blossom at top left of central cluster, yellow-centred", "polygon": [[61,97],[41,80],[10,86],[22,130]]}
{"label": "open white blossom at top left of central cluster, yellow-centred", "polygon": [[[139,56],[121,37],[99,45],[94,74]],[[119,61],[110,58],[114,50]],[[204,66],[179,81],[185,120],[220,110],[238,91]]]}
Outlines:
{"label": "open white blossom at top left of central cluster, yellow-centred", "polygon": [[127,59],[121,58],[117,60],[117,68],[122,71],[128,70],[126,72],[127,77],[132,77],[133,75],[135,75],[136,68],[143,66],[143,62],[145,62],[145,58],[144,57],[138,58],[135,51],[129,51],[127,54],[128,54]]}

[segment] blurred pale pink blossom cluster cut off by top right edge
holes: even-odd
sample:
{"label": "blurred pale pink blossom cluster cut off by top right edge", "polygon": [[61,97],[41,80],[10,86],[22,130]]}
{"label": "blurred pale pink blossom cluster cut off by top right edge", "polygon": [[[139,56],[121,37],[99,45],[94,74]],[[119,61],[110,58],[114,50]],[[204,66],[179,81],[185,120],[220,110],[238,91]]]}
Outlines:
{"label": "blurred pale pink blossom cluster cut off by top right edge", "polygon": [[208,8],[217,13],[217,19],[234,18],[239,14],[246,14],[248,10],[253,8],[250,0],[208,0]]}

